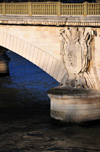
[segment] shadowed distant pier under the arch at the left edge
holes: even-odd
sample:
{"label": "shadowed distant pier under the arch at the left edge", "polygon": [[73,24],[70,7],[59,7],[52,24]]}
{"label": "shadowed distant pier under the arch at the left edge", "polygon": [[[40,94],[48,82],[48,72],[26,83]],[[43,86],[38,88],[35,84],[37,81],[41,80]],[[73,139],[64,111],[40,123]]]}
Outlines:
{"label": "shadowed distant pier under the arch at the left edge", "polygon": [[0,46],[0,77],[9,76],[10,58],[6,55],[7,49]]}

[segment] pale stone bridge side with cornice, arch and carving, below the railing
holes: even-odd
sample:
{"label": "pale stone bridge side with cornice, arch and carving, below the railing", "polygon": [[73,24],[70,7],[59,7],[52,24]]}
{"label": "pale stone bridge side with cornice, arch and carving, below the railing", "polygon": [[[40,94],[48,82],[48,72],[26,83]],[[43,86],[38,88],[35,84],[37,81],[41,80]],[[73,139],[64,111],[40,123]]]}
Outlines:
{"label": "pale stone bridge side with cornice, arch and carving, below the railing", "polygon": [[[62,85],[100,89],[99,16],[1,15],[0,46],[1,56],[11,50]],[[5,73],[6,62],[0,63]]]}

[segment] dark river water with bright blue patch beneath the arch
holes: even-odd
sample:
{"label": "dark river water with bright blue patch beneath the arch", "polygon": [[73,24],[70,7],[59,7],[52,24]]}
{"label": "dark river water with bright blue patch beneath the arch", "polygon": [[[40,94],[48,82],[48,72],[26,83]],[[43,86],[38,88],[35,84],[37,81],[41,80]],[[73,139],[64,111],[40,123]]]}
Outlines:
{"label": "dark river water with bright blue patch beneath the arch", "polygon": [[100,122],[54,125],[46,91],[58,82],[7,54],[11,76],[0,78],[0,152],[100,152]]}

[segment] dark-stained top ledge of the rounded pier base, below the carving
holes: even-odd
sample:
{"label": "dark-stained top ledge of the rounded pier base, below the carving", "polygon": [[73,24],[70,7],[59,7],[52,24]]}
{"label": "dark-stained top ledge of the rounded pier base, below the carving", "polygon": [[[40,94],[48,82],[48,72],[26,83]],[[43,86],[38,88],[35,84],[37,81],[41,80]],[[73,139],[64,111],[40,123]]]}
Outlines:
{"label": "dark-stained top ledge of the rounded pier base, below the carving", "polygon": [[[91,98],[91,97],[98,97],[100,95],[100,91],[96,89],[84,89],[84,88],[75,88],[75,87],[68,87],[68,86],[57,86],[54,88],[51,88],[47,91],[49,95],[53,95],[56,98],[59,98],[59,96],[76,96],[76,98]],[[57,97],[58,96],[58,97]],[[52,96],[50,96],[52,97]],[[72,98],[72,97],[71,97]],[[75,98],[75,97],[73,97]]]}

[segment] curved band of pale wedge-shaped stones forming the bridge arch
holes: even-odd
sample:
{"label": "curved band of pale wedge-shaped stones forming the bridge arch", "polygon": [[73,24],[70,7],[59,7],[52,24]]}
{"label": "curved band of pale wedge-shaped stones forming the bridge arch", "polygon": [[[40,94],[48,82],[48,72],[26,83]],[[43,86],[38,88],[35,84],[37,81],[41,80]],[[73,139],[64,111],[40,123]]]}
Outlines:
{"label": "curved band of pale wedge-shaped stones forming the bridge arch", "polygon": [[0,31],[0,45],[34,63],[58,82],[66,73],[63,63],[44,50],[19,37]]}

